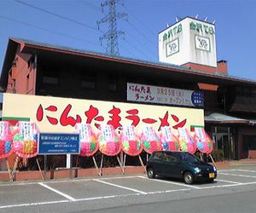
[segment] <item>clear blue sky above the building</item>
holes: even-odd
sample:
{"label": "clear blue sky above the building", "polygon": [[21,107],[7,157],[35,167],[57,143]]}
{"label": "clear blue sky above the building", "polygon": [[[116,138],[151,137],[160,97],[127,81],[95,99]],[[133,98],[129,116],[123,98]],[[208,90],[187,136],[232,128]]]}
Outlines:
{"label": "clear blue sky above the building", "polygon": [[[1,0],[0,67],[9,37],[52,43],[74,49],[105,53],[106,41],[99,37],[108,25],[96,25],[107,13],[105,0]],[[158,33],[175,17],[216,20],[218,60],[228,60],[229,74],[256,81],[256,1],[254,0],[124,0],[117,11],[127,14],[118,20],[119,55],[137,60],[158,61]],[[105,46],[105,47],[104,47]]]}

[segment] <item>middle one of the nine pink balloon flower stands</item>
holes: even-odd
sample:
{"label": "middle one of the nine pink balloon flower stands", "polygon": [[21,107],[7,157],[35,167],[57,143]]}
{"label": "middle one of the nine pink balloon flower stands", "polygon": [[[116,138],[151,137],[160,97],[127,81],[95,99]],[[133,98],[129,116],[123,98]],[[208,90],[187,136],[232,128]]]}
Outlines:
{"label": "middle one of the nine pink balloon flower stands", "polygon": [[143,151],[142,142],[137,136],[134,126],[124,126],[120,136],[122,150],[124,153],[137,156]]}

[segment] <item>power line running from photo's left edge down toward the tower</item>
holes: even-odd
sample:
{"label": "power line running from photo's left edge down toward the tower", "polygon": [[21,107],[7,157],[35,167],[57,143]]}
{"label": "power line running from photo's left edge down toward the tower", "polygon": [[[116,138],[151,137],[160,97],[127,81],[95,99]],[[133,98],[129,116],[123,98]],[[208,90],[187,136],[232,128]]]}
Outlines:
{"label": "power line running from photo's left edge down toward the tower", "polygon": [[34,26],[32,24],[29,24],[27,22],[23,22],[21,20],[15,20],[15,19],[12,19],[12,18],[9,18],[9,17],[6,17],[6,16],[3,16],[3,15],[0,15],[0,18],[1,19],[4,19],[4,20],[9,20],[9,21],[13,21],[13,22],[16,22],[16,23],[19,23],[21,25],[25,25],[25,26],[31,26],[33,28],[37,28],[39,30],[42,30],[42,31],[45,31],[45,32],[51,32],[51,33],[55,33],[57,35],[61,35],[61,36],[64,36],[64,37],[71,37],[73,39],[76,39],[76,40],[80,40],[80,41],[84,41],[84,42],[87,42],[87,43],[90,43],[90,44],[93,44],[95,46],[101,46],[100,44],[98,43],[92,43],[84,38],[81,38],[81,37],[74,37],[73,35],[68,35],[68,34],[65,34],[65,33],[61,33],[61,32],[55,32],[55,31],[52,31],[50,29],[46,29],[46,28],[43,28],[43,27],[40,27],[40,26]]}

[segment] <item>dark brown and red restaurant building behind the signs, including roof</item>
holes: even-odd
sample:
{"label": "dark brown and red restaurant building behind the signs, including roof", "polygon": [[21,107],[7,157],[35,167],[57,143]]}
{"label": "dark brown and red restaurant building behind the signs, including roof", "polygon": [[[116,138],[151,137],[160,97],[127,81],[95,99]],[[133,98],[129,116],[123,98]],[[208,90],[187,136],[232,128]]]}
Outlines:
{"label": "dark brown and red restaurant building behind the signs, including roof", "polygon": [[[214,149],[223,151],[225,159],[247,158],[248,150],[256,149],[256,82],[230,77],[224,60],[213,70],[195,63],[151,63],[10,38],[0,79],[5,93],[141,105],[127,100],[128,83],[203,92],[204,106],[197,108],[204,112]],[[15,123],[4,112],[3,120]]]}

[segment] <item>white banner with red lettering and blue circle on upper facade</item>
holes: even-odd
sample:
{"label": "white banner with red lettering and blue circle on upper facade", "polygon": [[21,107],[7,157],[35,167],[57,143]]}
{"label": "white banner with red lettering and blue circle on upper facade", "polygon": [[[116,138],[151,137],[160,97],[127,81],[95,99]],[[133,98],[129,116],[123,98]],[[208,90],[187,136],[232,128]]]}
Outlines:
{"label": "white banner with red lettering and blue circle on upper facade", "polygon": [[127,83],[127,101],[204,107],[204,95],[201,91],[156,87],[138,83]]}

